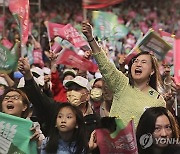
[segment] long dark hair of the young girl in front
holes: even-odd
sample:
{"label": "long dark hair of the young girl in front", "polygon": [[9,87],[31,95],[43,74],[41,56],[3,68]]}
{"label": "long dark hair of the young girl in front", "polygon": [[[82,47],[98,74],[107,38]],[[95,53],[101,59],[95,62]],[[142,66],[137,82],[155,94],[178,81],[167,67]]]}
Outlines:
{"label": "long dark hair of the young girl in front", "polygon": [[[46,146],[46,151],[48,153],[57,153],[58,141],[61,138],[61,136],[59,135],[59,130],[55,127],[55,125],[57,115],[62,108],[70,108],[76,115],[76,123],[78,128],[74,129],[74,134],[72,137],[72,142],[75,141],[75,154],[80,154],[82,152],[86,153],[88,149],[88,141],[86,137],[84,117],[82,112],[76,106],[70,103],[58,104],[54,116],[52,118],[51,130],[49,135],[49,141]],[[69,145],[72,144],[70,143]]]}

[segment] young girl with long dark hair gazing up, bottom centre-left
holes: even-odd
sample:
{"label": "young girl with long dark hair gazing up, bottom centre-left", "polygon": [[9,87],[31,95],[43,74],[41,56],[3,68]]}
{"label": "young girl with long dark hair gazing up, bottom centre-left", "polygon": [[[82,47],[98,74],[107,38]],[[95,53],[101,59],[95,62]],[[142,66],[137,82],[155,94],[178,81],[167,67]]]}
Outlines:
{"label": "young girl with long dark hair gazing up, bottom centre-left", "polygon": [[88,142],[82,112],[69,103],[58,104],[50,135],[43,141],[41,154],[85,154]]}

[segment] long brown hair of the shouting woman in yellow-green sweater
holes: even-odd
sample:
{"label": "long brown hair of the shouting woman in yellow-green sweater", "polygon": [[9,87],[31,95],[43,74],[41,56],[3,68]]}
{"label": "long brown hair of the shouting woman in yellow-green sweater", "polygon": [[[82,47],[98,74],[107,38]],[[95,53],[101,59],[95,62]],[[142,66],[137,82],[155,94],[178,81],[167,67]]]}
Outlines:
{"label": "long brown hair of the shouting woman in yellow-green sweater", "polygon": [[129,77],[129,84],[134,87],[134,80],[131,74],[131,67],[133,64],[133,61],[139,57],[140,55],[150,55],[151,57],[151,63],[152,63],[152,68],[154,69],[154,74],[150,76],[149,78],[149,85],[154,88],[155,90],[158,90],[158,87],[162,87],[162,80],[161,80],[161,75],[159,72],[159,67],[158,67],[158,61],[156,59],[156,57],[154,55],[152,55],[150,52],[148,51],[142,51],[140,53],[138,53],[137,55],[135,55],[131,61],[128,64],[128,77]]}

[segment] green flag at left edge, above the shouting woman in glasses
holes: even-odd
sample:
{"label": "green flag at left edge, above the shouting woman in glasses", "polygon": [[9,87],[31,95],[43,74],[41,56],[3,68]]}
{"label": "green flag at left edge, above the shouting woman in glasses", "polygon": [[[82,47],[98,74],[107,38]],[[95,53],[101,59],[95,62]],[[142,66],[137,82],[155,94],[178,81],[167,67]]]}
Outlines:
{"label": "green flag at left edge, above the shouting woman in glasses", "polygon": [[11,51],[0,44],[0,72],[15,71],[19,59],[19,43],[15,43]]}

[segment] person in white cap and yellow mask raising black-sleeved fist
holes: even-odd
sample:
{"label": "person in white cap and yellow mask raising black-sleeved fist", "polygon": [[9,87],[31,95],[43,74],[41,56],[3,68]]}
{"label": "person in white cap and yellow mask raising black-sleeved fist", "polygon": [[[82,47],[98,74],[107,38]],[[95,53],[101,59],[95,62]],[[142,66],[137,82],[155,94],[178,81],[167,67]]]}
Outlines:
{"label": "person in white cap and yellow mask raising black-sleeved fist", "polygon": [[[41,122],[45,123],[46,129],[43,133],[48,136],[52,115],[60,102],[56,102],[47,97],[39,89],[33,79],[27,59],[22,57],[19,59],[18,70],[24,75],[24,91],[26,92],[30,101],[33,103],[33,107],[36,109],[38,118],[41,119]],[[68,102],[77,106],[83,113],[89,139],[91,132],[96,128],[99,122],[99,117],[93,112],[89,102],[89,82],[86,78],[76,76],[74,79],[66,82],[65,86],[67,87]]]}

